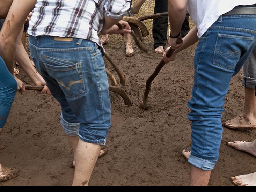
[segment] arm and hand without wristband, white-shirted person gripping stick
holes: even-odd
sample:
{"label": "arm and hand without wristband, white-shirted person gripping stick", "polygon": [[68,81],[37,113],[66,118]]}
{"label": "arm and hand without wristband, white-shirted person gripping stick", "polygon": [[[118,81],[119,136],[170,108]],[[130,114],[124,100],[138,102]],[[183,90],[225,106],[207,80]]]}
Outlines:
{"label": "arm and hand without wristband, white-shirted person gripping stick", "polygon": [[189,47],[189,46],[193,45],[194,43],[196,43],[196,42],[198,41],[197,32],[198,32],[197,27],[196,27],[196,26],[193,27],[193,29],[191,29],[191,30],[189,31],[189,33],[183,38],[183,44],[182,44],[178,49],[176,49],[176,50],[173,52],[173,54],[171,55],[171,57],[166,57],[166,53],[167,53],[167,51],[170,49],[170,47],[168,47],[168,48],[164,51],[164,53],[163,53],[163,60],[164,60],[164,62],[165,62],[165,63],[168,63],[168,62],[170,62],[170,61],[174,61],[176,55],[177,55],[180,51],[182,51],[182,50],[186,49],[187,47]]}

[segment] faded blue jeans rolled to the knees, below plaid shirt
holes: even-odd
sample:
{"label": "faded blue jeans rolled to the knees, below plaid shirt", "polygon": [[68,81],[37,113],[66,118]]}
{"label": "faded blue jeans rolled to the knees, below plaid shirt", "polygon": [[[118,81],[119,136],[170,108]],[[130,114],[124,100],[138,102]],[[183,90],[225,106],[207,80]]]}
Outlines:
{"label": "faded blue jeans rolled to the knees, below plaid shirt", "polygon": [[110,123],[109,84],[101,50],[94,42],[29,37],[31,57],[61,105],[60,123],[69,136],[105,145]]}

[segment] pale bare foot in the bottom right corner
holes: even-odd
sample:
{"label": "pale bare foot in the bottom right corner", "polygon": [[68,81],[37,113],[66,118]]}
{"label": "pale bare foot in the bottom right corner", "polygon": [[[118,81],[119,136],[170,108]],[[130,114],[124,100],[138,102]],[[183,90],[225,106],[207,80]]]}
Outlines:
{"label": "pale bare foot in the bottom right corner", "polygon": [[231,177],[231,179],[232,183],[238,186],[256,186],[256,172],[247,175]]}

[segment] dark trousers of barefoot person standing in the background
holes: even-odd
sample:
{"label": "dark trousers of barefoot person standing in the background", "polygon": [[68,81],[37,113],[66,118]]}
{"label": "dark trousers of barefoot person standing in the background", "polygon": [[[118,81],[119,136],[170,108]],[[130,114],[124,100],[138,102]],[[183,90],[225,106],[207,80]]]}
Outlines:
{"label": "dark trousers of barefoot person standing in the background", "polygon": [[[154,13],[168,12],[168,0],[155,0]],[[159,46],[165,46],[167,41],[168,30],[168,17],[159,17],[153,19],[153,37],[154,48]],[[186,16],[185,21],[181,28],[181,35],[184,37],[190,31],[189,28],[189,16]]]}

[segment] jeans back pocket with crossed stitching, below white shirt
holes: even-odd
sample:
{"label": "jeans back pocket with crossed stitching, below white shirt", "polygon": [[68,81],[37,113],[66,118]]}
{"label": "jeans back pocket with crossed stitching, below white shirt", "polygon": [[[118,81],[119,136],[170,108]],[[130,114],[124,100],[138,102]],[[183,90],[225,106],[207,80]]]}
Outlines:
{"label": "jeans back pocket with crossed stitching, below white shirt", "polygon": [[214,49],[213,65],[232,69],[239,61],[242,51],[247,51],[253,37],[218,34]]}

